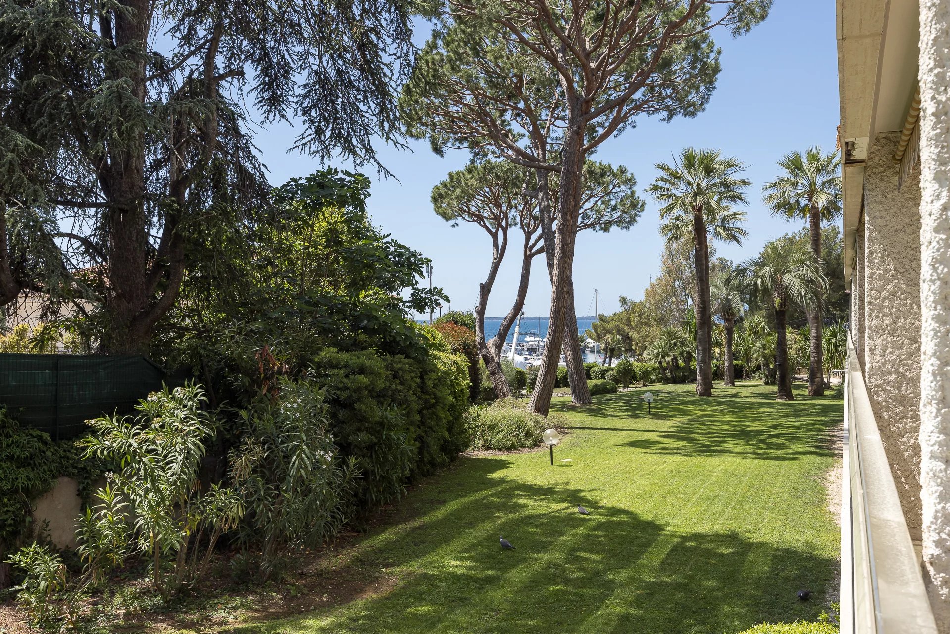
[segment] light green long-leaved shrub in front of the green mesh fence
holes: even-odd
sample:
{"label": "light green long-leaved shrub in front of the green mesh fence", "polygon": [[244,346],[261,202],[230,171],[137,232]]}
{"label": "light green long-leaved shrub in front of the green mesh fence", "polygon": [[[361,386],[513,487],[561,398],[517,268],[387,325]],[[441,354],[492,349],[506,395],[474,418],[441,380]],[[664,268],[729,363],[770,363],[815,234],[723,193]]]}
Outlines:
{"label": "light green long-leaved shrub in front of the green mesh fence", "polygon": [[[112,460],[91,508],[80,516],[77,552],[87,576],[102,579],[127,556],[152,562],[152,586],[164,602],[199,580],[218,537],[244,515],[234,490],[199,486],[199,468],[214,439],[197,385],[148,394],[132,416],[89,421],[93,432],[77,442],[86,456]],[[135,522],[129,523],[128,518]],[[206,539],[191,544],[195,535]],[[189,551],[193,547],[193,551]]]}

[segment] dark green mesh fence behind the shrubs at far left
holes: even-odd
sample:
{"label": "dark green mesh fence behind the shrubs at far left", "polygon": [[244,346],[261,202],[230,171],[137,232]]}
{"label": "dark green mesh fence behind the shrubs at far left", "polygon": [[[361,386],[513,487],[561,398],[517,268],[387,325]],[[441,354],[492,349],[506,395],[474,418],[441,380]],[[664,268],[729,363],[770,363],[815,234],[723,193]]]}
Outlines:
{"label": "dark green mesh fence behind the shrubs at far left", "polygon": [[53,440],[82,435],[88,418],[131,413],[163,380],[144,356],[0,354],[0,405]]}

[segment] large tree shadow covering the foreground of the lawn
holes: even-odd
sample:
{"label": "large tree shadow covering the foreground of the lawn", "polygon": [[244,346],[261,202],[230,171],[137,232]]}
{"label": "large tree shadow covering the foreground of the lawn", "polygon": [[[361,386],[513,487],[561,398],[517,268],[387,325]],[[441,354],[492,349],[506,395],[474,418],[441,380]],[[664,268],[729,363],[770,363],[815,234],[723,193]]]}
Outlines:
{"label": "large tree shadow covering the foreground of the lawn", "polygon": [[[735,533],[682,533],[588,491],[493,474],[469,458],[331,574],[398,578],[389,591],[250,632],[736,632],[813,619],[836,563]],[[444,505],[436,496],[459,499]],[[583,516],[576,505],[592,509]],[[504,535],[518,549],[498,544]],[[374,572],[373,572],[374,571]],[[816,601],[795,592],[807,587]]]}

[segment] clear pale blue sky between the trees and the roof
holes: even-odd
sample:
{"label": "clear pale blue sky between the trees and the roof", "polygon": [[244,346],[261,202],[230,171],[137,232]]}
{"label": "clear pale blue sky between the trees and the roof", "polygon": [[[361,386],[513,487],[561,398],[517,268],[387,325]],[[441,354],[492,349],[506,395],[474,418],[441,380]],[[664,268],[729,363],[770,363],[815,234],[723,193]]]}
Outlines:
{"label": "clear pale blue sky between the trees and the roof", "polygon": [[[425,31],[417,33],[419,39]],[[763,183],[777,175],[775,163],[793,149],[821,145],[834,148],[838,114],[835,5],[830,0],[775,0],[769,19],[748,35],[731,38],[714,32],[722,48],[718,84],[704,112],[694,119],[662,123],[642,117],[623,134],[602,144],[599,161],[625,165],[637,177],[637,192],[646,210],[629,231],[609,234],[582,232],[574,261],[577,314],[594,314],[594,289],[599,289],[600,313],[618,310],[618,298],[639,299],[656,276],[663,249],[657,227],[658,204],[645,194],[656,178],[655,165],[669,161],[680,148],[715,147],[747,165],[752,187],[746,223],[750,237],[742,246],[719,245],[717,255],[738,261],[749,258],[767,241],[800,229],[773,218],[761,202]],[[421,43],[421,42],[420,42]],[[271,183],[283,183],[320,169],[314,159],[288,151],[296,131],[287,124],[268,125],[256,143],[270,169]],[[484,281],[491,257],[485,232],[472,225],[452,227],[435,215],[429,200],[432,187],[447,172],[468,161],[465,151],[435,155],[425,142],[410,142],[410,150],[377,144],[380,161],[395,179],[365,173],[373,182],[368,207],[375,225],[432,259],[433,284],[451,299],[451,308],[473,308],[478,284]],[[344,163],[335,166],[346,168]],[[352,167],[350,167],[352,169]],[[521,258],[509,253],[492,290],[486,315],[504,315],[515,298]],[[535,259],[525,315],[547,315],[551,286],[542,258]]]}

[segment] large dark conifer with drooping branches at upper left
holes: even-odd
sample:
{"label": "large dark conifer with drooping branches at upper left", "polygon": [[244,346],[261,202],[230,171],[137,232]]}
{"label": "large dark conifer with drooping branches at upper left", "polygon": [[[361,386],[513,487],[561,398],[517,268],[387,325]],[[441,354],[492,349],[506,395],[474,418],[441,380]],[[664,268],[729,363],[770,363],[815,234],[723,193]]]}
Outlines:
{"label": "large dark conifer with drooping branches at upper left", "polygon": [[190,246],[266,202],[252,113],[378,166],[410,26],[400,0],[0,6],[0,304],[81,294],[104,351],[145,350]]}

